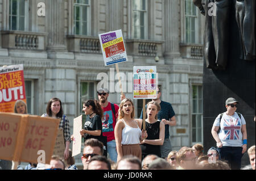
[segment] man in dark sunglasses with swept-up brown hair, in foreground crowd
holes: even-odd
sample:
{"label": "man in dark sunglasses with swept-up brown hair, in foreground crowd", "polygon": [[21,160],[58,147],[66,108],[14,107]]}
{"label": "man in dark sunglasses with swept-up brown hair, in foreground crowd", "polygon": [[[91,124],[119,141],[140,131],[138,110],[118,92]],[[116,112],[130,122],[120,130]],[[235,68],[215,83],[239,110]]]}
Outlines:
{"label": "man in dark sunglasses with swept-up brown hair, in foreground crowd", "polygon": [[96,155],[103,155],[103,144],[97,139],[90,138],[84,142],[84,150],[82,151],[82,165],[87,170],[91,158]]}

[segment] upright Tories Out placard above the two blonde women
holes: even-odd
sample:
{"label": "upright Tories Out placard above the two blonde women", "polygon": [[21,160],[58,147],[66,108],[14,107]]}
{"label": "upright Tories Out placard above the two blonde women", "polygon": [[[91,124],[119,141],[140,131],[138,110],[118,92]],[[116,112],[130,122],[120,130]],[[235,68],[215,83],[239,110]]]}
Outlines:
{"label": "upright Tories Out placard above the two blonde women", "polygon": [[156,66],[133,67],[133,98],[156,99]]}

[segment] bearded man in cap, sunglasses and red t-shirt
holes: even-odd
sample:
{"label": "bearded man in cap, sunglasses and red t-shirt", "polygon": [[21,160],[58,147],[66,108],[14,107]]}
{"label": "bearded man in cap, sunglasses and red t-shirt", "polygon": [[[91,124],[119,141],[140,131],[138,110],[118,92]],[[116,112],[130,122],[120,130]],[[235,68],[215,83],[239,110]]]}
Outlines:
{"label": "bearded man in cap, sunglasses and red t-shirt", "polygon": [[99,89],[98,100],[100,101],[104,116],[102,120],[102,133],[107,137],[108,153],[112,161],[117,162],[117,149],[115,145],[114,129],[118,117],[119,106],[108,101],[109,90]]}

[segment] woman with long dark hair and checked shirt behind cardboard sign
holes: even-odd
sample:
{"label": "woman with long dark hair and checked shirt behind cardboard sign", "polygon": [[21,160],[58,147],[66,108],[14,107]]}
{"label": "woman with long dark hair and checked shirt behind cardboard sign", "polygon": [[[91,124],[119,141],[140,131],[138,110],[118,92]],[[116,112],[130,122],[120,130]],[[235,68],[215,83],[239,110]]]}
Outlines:
{"label": "woman with long dark hair and checked shirt behind cardboard sign", "polygon": [[56,119],[60,119],[59,129],[63,129],[64,132],[64,141],[65,141],[65,151],[64,151],[64,159],[68,159],[69,156],[69,144],[71,142],[70,132],[69,132],[69,120],[67,116],[63,114],[62,104],[60,99],[52,98],[49,100],[46,112],[41,117],[52,117]]}

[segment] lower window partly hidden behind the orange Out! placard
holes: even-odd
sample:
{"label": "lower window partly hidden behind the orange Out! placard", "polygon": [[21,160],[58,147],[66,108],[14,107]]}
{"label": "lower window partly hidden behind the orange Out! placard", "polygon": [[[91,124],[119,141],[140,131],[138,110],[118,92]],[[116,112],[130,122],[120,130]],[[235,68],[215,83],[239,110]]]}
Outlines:
{"label": "lower window partly hidden behind the orange Out! placard", "polygon": [[27,99],[27,113],[34,114],[34,81],[25,81],[26,99]]}

